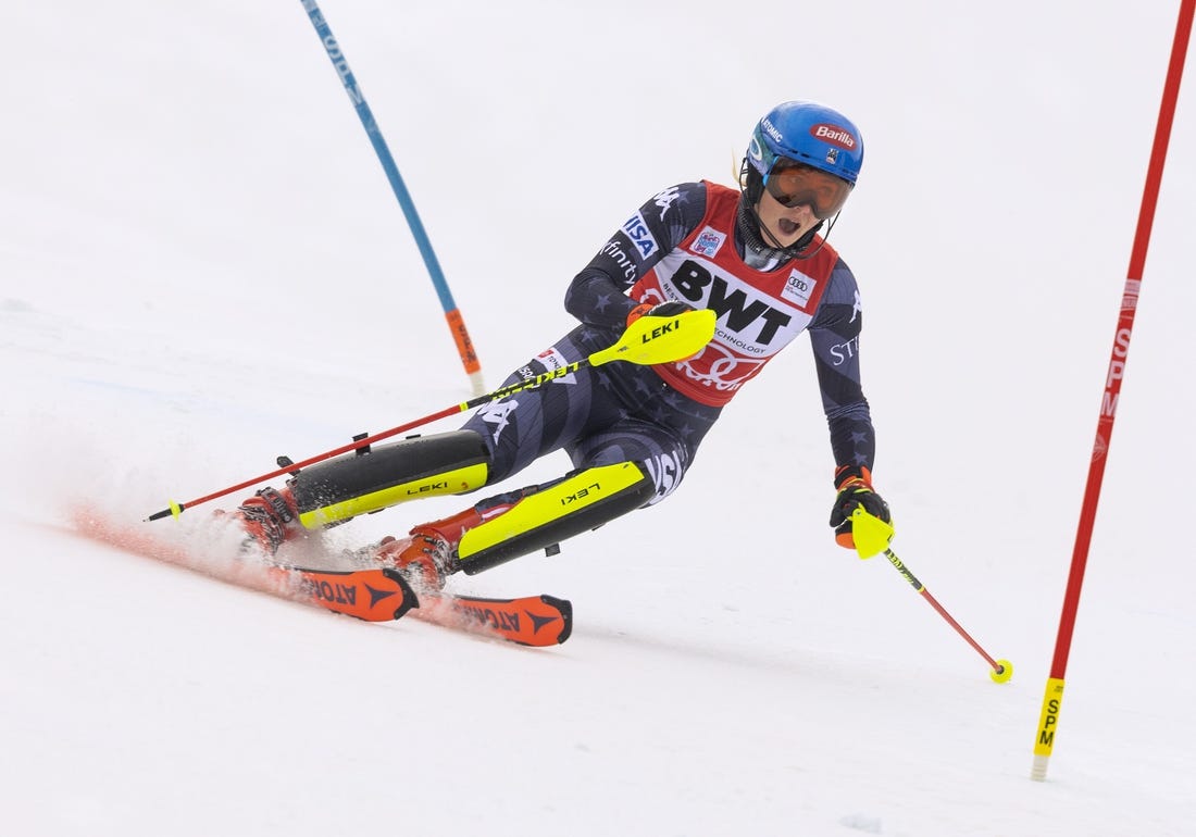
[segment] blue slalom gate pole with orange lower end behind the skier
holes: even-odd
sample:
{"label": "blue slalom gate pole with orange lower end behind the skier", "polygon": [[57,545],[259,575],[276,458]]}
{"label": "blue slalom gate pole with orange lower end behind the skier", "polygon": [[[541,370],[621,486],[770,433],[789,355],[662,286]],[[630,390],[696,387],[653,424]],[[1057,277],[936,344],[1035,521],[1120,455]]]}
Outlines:
{"label": "blue slalom gate pole with orange lower end behind the skier", "polygon": [[448,331],[452,334],[453,342],[457,344],[457,352],[460,354],[460,362],[465,367],[465,373],[469,375],[474,395],[478,395],[484,389],[482,383],[482,365],[477,359],[477,353],[474,352],[474,343],[470,341],[469,331],[465,329],[465,320],[462,317],[460,311],[457,308],[457,304],[453,301],[452,292],[448,289],[448,282],[445,281],[444,271],[440,269],[440,262],[437,259],[437,253],[432,249],[432,242],[428,239],[428,233],[423,230],[423,222],[420,220],[420,213],[415,209],[415,202],[411,200],[411,194],[407,190],[407,185],[403,183],[403,176],[398,173],[398,166],[395,165],[395,158],[391,157],[390,148],[386,147],[386,140],[383,139],[382,132],[378,129],[378,123],[374,121],[373,112],[366,103],[366,97],[362,94],[361,87],[358,86],[358,81],[353,77],[353,71],[349,69],[349,62],[346,61],[344,53],[341,50],[340,44],[336,43],[336,38],[332,36],[332,30],[329,29],[328,20],[324,19],[324,13],[319,11],[319,5],[316,0],[300,0],[300,2],[303,2],[304,11],[307,12],[307,18],[311,20],[311,25],[316,28],[316,35],[319,36],[321,43],[324,44],[324,50],[328,53],[328,57],[332,61],[332,67],[336,68],[336,74],[340,75],[341,84],[344,85],[344,92],[349,94],[353,109],[358,111],[361,126],[366,129],[366,135],[370,138],[370,142],[373,145],[374,152],[378,154],[378,161],[382,163],[383,171],[386,172],[386,179],[390,181],[390,187],[395,191],[395,197],[398,198],[398,206],[403,209],[407,224],[411,228],[411,234],[415,237],[415,244],[420,248],[420,255],[423,256],[423,264],[427,267],[428,275],[432,277],[432,285],[435,287],[437,295],[440,298],[440,306],[444,308],[445,320],[448,323]]}

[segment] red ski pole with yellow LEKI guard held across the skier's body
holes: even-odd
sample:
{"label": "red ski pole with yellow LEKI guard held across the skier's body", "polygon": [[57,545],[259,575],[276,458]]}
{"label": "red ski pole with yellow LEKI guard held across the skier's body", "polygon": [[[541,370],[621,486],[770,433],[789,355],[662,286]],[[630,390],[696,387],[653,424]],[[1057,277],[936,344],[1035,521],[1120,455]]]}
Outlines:
{"label": "red ski pole with yellow LEKI guard held across the skier's body", "polygon": [[506,386],[499,387],[493,392],[477,396],[476,398],[470,398],[460,404],[446,407],[445,409],[426,415],[422,418],[409,421],[405,424],[392,427],[389,430],[376,433],[372,436],[354,439],[353,442],[348,445],[343,445],[331,451],[325,451],[324,453],[311,457],[310,459],[304,459],[298,463],[288,462],[285,466],[277,469],[276,471],[270,471],[269,474],[263,474],[260,477],[254,477],[252,479],[246,479],[245,482],[237,483],[236,485],[222,488],[219,491],[206,494],[202,497],[196,497],[189,502],[181,503],[171,500],[167,508],[164,508],[160,512],[154,512],[146,518],[146,520],[161,520],[163,518],[169,517],[177,518],[185,509],[191,508],[193,506],[199,506],[200,503],[208,502],[209,500],[222,497],[227,494],[232,494],[233,491],[240,491],[250,485],[256,485],[260,482],[273,479],[274,477],[282,476],[283,474],[291,474],[300,468],[315,465],[318,462],[331,459],[332,457],[341,456],[342,453],[349,453],[350,451],[367,447],[377,441],[382,441],[383,439],[390,439],[391,436],[405,433],[413,428],[431,424],[439,418],[447,418],[451,415],[471,410],[475,407],[481,407],[488,402],[506,398],[515,392],[536,389],[555,380],[556,378],[563,378],[586,367],[602,366],[603,363],[609,363],[616,360],[621,360],[627,363],[636,363],[639,366],[652,366],[653,363],[671,363],[677,360],[691,358],[701,352],[702,347],[710,342],[710,337],[714,336],[715,319],[716,317],[714,311],[709,308],[687,311],[675,317],[640,317],[637,320],[627,326],[627,330],[622,334],[622,336],[620,336],[614,346],[594,352],[588,358],[582,358],[573,363],[567,363],[559,369],[544,372],[535,378],[517,380],[515,383],[507,384]]}

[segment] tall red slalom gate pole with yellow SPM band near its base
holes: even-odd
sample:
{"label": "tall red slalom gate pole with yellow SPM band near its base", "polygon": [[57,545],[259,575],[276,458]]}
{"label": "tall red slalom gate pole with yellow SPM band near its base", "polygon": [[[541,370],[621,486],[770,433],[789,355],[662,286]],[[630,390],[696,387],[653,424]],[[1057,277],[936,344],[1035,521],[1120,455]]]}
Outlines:
{"label": "tall red slalom gate pole with yellow SPM band near its base", "polygon": [[1035,760],[1030,770],[1030,778],[1039,782],[1046,778],[1046,764],[1055,745],[1055,728],[1058,726],[1058,710],[1063,702],[1063,676],[1067,671],[1068,652],[1072,648],[1075,611],[1080,604],[1080,587],[1084,584],[1084,569],[1088,560],[1088,545],[1092,540],[1092,524],[1097,517],[1097,501],[1100,497],[1100,483],[1105,474],[1106,454],[1112,438],[1113,418],[1117,414],[1117,397],[1125,375],[1129,338],[1134,330],[1134,314],[1137,311],[1146,250],[1151,242],[1154,208],[1158,203],[1159,184],[1163,181],[1163,164],[1167,157],[1171,123],[1176,112],[1176,100],[1179,97],[1179,79],[1183,75],[1184,59],[1188,54],[1194,8],[1196,8],[1196,0],[1182,0],[1179,20],[1176,24],[1176,38],[1171,49],[1171,63],[1167,67],[1167,79],[1163,90],[1163,104],[1159,108],[1159,121],[1154,133],[1154,146],[1151,149],[1151,164],[1146,173],[1142,206],[1137,215],[1137,230],[1134,233],[1129,273],[1125,277],[1125,289],[1122,293],[1121,316],[1117,319],[1117,332],[1113,336],[1113,347],[1109,358],[1109,372],[1105,375],[1105,391],[1100,401],[1097,438],[1092,445],[1092,463],[1088,466],[1088,483],[1084,491],[1084,503],[1080,507],[1075,549],[1072,552],[1072,569],[1063,597],[1063,613],[1060,617],[1058,636],[1055,640],[1055,658],[1051,661],[1050,677],[1046,679],[1046,694],[1043,697],[1042,714],[1035,738]]}

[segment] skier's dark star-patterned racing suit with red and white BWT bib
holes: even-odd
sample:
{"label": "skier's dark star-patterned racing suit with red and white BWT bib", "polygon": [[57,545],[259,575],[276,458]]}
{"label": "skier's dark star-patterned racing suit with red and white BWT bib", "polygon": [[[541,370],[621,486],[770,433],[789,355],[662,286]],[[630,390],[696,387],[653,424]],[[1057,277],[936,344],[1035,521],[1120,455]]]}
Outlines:
{"label": "skier's dark star-patterned racing suit with red and white BWT bib", "polygon": [[579,470],[640,463],[654,484],[645,505],[659,502],[681,483],[722,407],[801,331],[813,347],[835,463],[871,470],[875,445],[860,385],[855,277],[819,238],[806,248],[808,258],[779,259],[739,201],[737,190],[708,182],[654,195],[569,285],[566,308],[581,324],[506,383],[611,346],[641,303],[713,308],[710,346],[682,363],[585,367],[482,407],[463,429],[489,447],[488,484],[563,448]]}

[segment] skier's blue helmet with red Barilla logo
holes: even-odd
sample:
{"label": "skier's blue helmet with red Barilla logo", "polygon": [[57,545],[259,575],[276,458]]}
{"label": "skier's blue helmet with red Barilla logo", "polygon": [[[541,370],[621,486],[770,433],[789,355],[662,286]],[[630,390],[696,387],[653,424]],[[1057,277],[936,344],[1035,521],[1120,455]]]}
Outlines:
{"label": "skier's blue helmet with red Barilla logo", "polygon": [[864,165],[864,138],[837,110],[817,102],[786,102],[768,111],[748,143],[748,163],[762,178],[782,157],[854,185]]}

